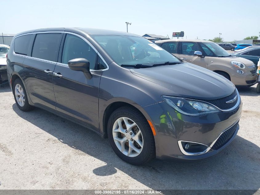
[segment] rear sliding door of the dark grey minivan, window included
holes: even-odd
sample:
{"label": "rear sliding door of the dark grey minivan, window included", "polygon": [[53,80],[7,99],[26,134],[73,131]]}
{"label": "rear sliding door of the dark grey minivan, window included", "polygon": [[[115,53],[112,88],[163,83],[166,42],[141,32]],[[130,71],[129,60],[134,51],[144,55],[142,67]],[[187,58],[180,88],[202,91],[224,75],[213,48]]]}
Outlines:
{"label": "rear sliding door of the dark grey minivan, window included", "polygon": [[30,100],[56,113],[53,76],[63,33],[38,33],[31,54],[24,60],[24,81]]}

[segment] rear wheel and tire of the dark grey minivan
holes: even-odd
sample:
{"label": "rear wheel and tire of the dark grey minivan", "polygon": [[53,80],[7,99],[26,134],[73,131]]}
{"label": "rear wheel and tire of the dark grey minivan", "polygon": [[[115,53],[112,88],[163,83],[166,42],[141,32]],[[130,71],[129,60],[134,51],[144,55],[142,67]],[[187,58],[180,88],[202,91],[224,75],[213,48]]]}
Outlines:
{"label": "rear wheel and tire of the dark grey minivan", "polygon": [[33,108],[28,102],[25,87],[21,79],[16,79],[14,81],[13,87],[14,100],[18,108],[24,112],[27,112]]}

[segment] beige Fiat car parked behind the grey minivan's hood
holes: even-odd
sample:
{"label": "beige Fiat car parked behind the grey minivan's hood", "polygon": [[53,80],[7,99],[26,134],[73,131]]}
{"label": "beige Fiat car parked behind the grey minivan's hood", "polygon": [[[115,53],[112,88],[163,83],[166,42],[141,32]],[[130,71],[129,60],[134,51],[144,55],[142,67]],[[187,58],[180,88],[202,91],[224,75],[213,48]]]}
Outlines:
{"label": "beige Fiat car parked behind the grey minivan's hood", "polygon": [[256,83],[256,67],[252,61],[232,56],[211,41],[168,39],[155,43],[186,62],[224,76],[237,87],[250,87]]}

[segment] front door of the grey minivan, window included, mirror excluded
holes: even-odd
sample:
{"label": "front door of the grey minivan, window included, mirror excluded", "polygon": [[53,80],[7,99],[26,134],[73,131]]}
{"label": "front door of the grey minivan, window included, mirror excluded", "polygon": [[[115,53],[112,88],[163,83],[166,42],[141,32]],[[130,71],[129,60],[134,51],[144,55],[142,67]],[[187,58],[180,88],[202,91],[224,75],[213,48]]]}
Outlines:
{"label": "front door of the grey minivan, window included, mirror excluded", "polygon": [[[98,95],[102,68],[97,68],[97,51],[86,39],[76,35],[66,34],[62,43],[63,49],[53,77],[56,110],[60,116],[98,131]],[[69,68],[68,61],[75,58],[89,60],[91,79],[87,79],[83,72]]]}

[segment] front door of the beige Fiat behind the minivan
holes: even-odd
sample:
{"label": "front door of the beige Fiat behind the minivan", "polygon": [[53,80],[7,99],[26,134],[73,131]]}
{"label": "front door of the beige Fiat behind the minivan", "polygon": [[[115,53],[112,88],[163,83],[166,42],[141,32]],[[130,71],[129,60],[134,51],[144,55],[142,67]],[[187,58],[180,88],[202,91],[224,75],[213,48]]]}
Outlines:
{"label": "front door of the beige Fiat behind the minivan", "polygon": [[179,58],[185,60],[186,62],[196,64],[203,68],[208,67],[208,57],[198,57],[194,55],[195,51],[203,51],[200,49],[196,42],[181,42],[180,43],[180,54]]}

